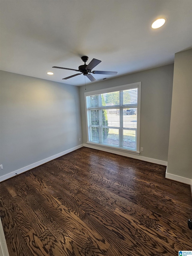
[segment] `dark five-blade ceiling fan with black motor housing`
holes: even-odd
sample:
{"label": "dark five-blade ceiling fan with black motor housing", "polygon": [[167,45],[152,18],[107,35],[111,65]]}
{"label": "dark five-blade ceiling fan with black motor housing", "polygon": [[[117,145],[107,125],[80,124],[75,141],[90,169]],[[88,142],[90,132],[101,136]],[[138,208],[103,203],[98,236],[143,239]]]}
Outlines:
{"label": "dark five-blade ceiling fan with black motor housing", "polygon": [[[87,62],[88,57],[87,56],[82,56],[81,59],[82,59],[83,62]],[[71,77],[75,77],[75,76],[83,74],[84,76],[88,77],[88,79],[91,80],[91,82],[94,82],[94,81],[97,81],[97,80],[95,79],[95,77],[93,77],[91,74],[88,74],[88,73],[103,74],[103,75],[116,75],[117,74],[117,72],[113,72],[113,71],[92,71],[92,69],[95,68],[100,62],[101,62],[101,60],[92,59],[91,62],[88,65],[86,65],[86,64],[80,65],[79,69],[61,68],[61,67],[55,67],[55,66],[52,67],[52,68],[61,68],[61,69],[68,69],[68,70],[74,70],[74,71],[81,72],[81,73],[78,73],[78,74],[75,74],[75,75],[72,75],[72,76],[69,76],[69,77],[65,77],[63,79],[69,79]]]}

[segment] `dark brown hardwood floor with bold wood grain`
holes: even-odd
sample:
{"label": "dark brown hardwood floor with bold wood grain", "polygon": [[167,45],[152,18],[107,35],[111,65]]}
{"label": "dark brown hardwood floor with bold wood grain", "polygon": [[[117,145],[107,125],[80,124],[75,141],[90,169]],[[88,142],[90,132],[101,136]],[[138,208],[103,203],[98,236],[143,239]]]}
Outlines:
{"label": "dark brown hardwood floor with bold wood grain", "polygon": [[192,250],[189,185],[166,167],[81,148],[0,183],[10,256]]}

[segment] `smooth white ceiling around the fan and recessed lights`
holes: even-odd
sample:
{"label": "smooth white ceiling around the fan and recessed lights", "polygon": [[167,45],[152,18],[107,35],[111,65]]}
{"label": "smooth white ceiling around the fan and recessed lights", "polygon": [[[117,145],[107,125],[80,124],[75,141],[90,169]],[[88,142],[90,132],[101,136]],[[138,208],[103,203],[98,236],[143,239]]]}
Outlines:
{"label": "smooth white ceiling around the fan and recessed lights", "polygon": [[[0,0],[0,10],[0,69],[70,85],[91,82],[62,80],[77,72],[52,66],[78,69],[86,55],[86,64],[102,61],[94,70],[122,76],[173,63],[192,48],[191,0]],[[167,23],[152,30],[157,17]]]}

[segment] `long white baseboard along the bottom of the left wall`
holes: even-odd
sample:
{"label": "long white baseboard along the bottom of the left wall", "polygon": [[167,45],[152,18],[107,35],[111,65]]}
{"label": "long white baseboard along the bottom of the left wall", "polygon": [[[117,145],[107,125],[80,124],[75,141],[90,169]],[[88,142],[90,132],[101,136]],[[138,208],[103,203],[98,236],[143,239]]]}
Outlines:
{"label": "long white baseboard along the bottom of the left wall", "polygon": [[56,155],[52,155],[52,156],[50,156],[50,157],[48,157],[48,158],[45,158],[45,159],[43,159],[43,160],[41,160],[41,161],[38,161],[38,162],[34,163],[34,164],[30,164],[30,165],[28,165],[28,166],[25,166],[25,167],[23,167],[23,168],[21,168],[21,169],[19,169],[19,170],[15,170],[14,172],[7,173],[7,174],[5,174],[5,175],[3,175],[3,176],[0,176],[0,182],[1,182],[1,181],[4,181],[4,180],[6,180],[6,179],[9,179],[9,178],[11,178],[11,177],[13,177],[13,176],[16,176],[15,173],[17,173],[17,174],[24,173],[24,172],[26,172],[26,171],[28,171],[28,170],[31,170],[31,169],[33,169],[33,168],[35,168],[35,167],[38,167],[38,166],[41,165],[41,164],[45,164],[45,163],[47,163],[47,162],[49,162],[49,161],[51,161],[51,160],[53,160],[53,159],[55,159],[55,158],[58,158],[58,157],[60,157],[60,156],[62,156],[62,155],[66,155],[66,154],[68,154],[68,153],[70,153],[70,152],[72,152],[72,151],[74,151],[74,150],[76,150],[76,149],[82,148],[82,147],[83,147],[83,144],[81,144],[81,145],[79,145],[79,146],[76,146],[76,147],[74,147],[74,148],[71,148],[71,149],[67,149],[67,150],[65,150],[65,151],[63,151],[63,152],[61,152],[61,153],[56,154]]}

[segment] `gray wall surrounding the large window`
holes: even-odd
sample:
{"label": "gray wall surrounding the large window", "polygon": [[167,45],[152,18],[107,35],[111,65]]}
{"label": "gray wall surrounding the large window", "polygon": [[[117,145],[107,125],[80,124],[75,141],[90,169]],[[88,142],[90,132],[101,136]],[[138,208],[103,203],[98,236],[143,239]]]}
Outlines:
{"label": "gray wall surrounding the large window", "polygon": [[167,161],[173,64],[80,87],[83,143],[87,142],[84,92],[141,82],[141,156]]}

